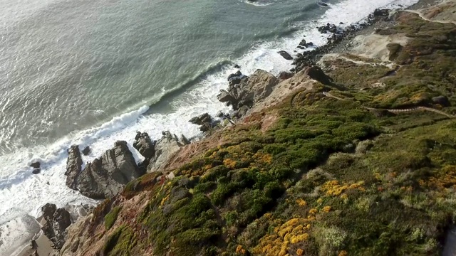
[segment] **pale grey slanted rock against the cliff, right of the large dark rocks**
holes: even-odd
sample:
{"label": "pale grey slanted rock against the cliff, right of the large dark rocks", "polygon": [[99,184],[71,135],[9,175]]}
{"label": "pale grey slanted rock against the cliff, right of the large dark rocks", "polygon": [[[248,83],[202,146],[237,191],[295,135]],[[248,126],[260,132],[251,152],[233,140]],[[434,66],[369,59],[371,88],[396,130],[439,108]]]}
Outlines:
{"label": "pale grey slanted rock against the cliff, right of the large dark rocks", "polygon": [[154,171],[162,171],[167,164],[168,160],[180,149],[184,143],[179,142],[170,132],[165,134],[155,144],[155,158],[147,165],[147,173]]}

